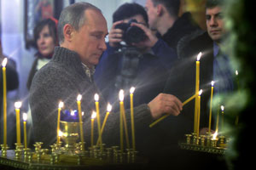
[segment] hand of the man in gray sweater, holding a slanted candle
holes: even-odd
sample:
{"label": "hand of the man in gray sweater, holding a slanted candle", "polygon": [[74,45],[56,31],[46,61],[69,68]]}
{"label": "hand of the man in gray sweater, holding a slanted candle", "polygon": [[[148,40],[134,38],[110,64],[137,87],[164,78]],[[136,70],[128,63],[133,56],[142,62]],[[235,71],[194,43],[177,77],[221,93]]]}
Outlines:
{"label": "hand of the man in gray sweater, holding a slanted candle", "polygon": [[178,116],[183,110],[182,102],[172,94],[159,94],[148,103],[148,107],[153,119],[157,119],[165,113]]}

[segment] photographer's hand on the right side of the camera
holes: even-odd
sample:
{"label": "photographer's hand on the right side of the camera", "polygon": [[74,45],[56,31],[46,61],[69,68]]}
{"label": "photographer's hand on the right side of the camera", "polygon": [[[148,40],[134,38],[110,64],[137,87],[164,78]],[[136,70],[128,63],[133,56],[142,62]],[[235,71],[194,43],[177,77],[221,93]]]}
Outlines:
{"label": "photographer's hand on the right side of the camera", "polygon": [[143,26],[142,24],[132,22],[131,26],[137,26],[141,28],[146,36],[148,37],[145,41],[143,42],[138,42],[138,43],[133,43],[132,45],[136,47],[141,47],[141,48],[152,48],[154,44],[158,41],[158,38],[154,35],[154,32],[151,31],[147,26]]}

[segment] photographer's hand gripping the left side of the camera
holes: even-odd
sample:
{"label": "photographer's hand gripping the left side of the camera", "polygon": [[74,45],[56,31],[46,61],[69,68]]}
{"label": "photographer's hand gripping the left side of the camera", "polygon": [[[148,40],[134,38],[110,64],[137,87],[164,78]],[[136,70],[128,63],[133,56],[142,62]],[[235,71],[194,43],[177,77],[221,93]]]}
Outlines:
{"label": "photographer's hand gripping the left side of the camera", "polygon": [[113,23],[113,26],[111,27],[111,30],[109,31],[108,34],[108,39],[109,39],[109,45],[110,47],[117,47],[119,42],[123,41],[123,31],[121,29],[115,29],[115,26],[123,23],[123,20],[119,20]]}

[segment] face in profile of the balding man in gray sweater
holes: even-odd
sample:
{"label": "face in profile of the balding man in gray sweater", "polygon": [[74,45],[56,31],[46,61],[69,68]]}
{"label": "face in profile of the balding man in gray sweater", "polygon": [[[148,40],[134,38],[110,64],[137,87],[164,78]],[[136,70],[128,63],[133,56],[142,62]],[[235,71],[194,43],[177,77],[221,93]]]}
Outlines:
{"label": "face in profile of the balding man in gray sweater", "polygon": [[105,37],[108,34],[107,21],[96,10],[88,9],[84,13],[86,20],[79,31],[73,32],[73,51],[77,52],[81,61],[88,67],[97,65],[107,49]]}

